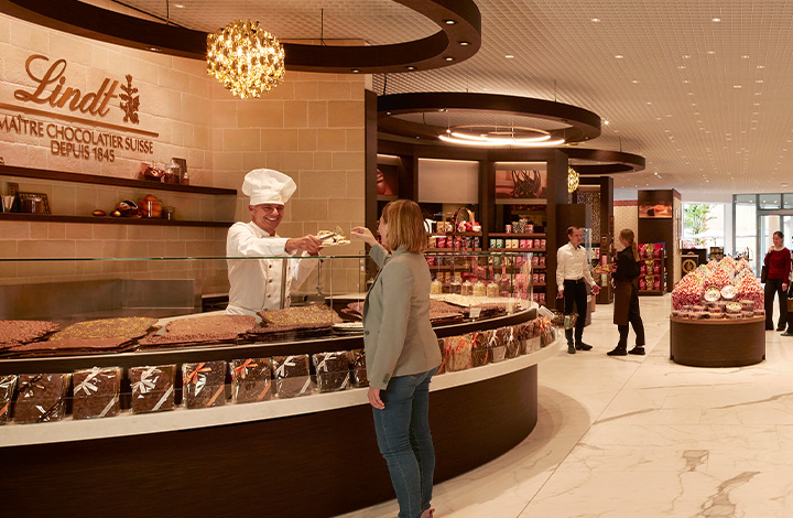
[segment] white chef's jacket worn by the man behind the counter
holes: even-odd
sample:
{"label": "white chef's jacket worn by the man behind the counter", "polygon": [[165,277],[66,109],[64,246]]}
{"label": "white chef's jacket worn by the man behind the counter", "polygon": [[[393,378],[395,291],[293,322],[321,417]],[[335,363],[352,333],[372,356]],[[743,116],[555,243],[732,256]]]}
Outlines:
{"label": "white chef's jacket worn by the man behind the counter", "polygon": [[[235,223],[226,239],[227,257],[294,257],[286,253],[286,238],[271,236],[256,223]],[[306,253],[304,252],[303,256]],[[281,282],[283,262],[286,262],[286,300],[289,306],[292,287],[301,285],[316,266],[315,260],[294,259],[229,259],[229,305],[227,315],[256,316],[258,311],[281,309]]]}

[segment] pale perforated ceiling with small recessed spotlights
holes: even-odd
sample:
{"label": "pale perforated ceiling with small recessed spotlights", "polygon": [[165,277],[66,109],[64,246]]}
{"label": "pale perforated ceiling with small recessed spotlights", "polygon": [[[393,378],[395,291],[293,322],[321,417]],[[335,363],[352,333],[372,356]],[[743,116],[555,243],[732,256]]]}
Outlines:
{"label": "pale perforated ceiling with small recessed spotlights", "polygon": [[[382,44],[437,30],[390,0],[124,3],[205,31],[250,18],[282,40],[322,34]],[[582,147],[647,159],[645,171],[616,175],[617,187],[793,192],[784,186],[793,185],[793,0],[477,4],[482,46],[476,56],[436,71],[390,74],[385,93],[509,94],[591,110],[609,125]],[[378,94],[383,83],[373,78]]]}

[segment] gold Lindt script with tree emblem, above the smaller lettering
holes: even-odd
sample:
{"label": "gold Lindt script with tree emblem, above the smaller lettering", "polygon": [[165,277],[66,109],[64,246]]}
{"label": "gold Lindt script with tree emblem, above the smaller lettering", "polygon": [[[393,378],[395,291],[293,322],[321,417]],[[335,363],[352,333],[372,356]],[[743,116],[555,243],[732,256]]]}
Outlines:
{"label": "gold Lindt script with tree emblem, above the smaller lettering", "polygon": [[[140,98],[138,88],[132,86],[132,76],[127,75],[127,84],[119,87],[119,82],[106,77],[99,88],[94,91],[82,91],[67,84],[66,60],[50,58],[33,54],[25,61],[28,76],[35,83],[33,89],[14,90],[14,98],[23,102],[48,104],[53,108],[68,107],[72,111],[105,117],[110,111],[110,102],[120,98],[119,108],[123,112],[123,121],[138,123]],[[120,94],[116,94],[120,89]]]}

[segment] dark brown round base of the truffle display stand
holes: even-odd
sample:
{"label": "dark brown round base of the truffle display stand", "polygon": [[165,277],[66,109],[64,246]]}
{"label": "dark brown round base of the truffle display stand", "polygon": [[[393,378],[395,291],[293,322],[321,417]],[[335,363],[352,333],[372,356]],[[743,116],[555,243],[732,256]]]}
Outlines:
{"label": "dark brown round base of the truffle display stand", "polygon": [[765,359],[765,317],[670,316],[670,359],[693,367],[742,367]]}

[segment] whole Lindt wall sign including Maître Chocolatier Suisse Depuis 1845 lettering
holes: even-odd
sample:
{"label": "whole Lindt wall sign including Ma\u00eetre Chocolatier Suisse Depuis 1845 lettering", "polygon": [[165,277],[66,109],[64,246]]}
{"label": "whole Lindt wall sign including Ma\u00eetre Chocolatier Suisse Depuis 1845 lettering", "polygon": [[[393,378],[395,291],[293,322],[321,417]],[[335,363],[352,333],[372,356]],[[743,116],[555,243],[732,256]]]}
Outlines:
{"label": "whole Lindt wall sign including Ma\u00eetre Chocolatier Suisse Depuis 1845 lettering", "polygon": [[[50,152],[65,158],[112,162],[117,151],[153,154],[154,142],[149,138],[159,137],[159,133],[129,126],[140,122],[140,96],[138,88],[132,85],[132,76],[127,75],[126,84],[105,77],[97,88],[84,91],[69,83],[66,65],[66,60],[51,61],[41,54],[28,57],[25,72],[33,86],[14,90],[14,99],[21,105],[0,102],[0,108],[26,115],[0,115],[0,133],[47,139]],[[42,108],[46,109],[33,108],[31,105],[43,105]],[[128,126],[80,117],[80,114],[85,114],[107,119],[106,116],[115,107],[120,108],[119,119],[123,116],[123,122]],[[63,109],[68,112],[64,114]],[[31,115],[66,123],[40,120]],[[134,133],[135,137],[123,133]]]}

